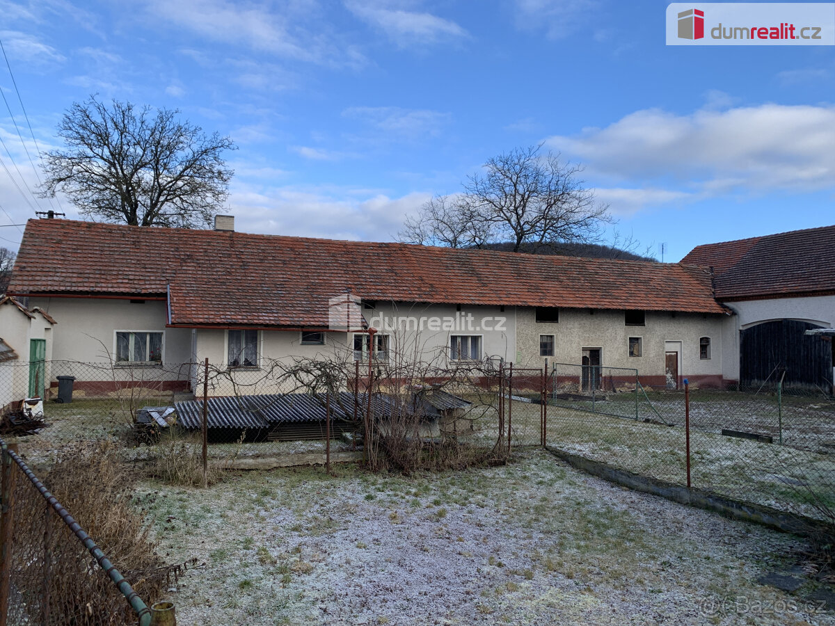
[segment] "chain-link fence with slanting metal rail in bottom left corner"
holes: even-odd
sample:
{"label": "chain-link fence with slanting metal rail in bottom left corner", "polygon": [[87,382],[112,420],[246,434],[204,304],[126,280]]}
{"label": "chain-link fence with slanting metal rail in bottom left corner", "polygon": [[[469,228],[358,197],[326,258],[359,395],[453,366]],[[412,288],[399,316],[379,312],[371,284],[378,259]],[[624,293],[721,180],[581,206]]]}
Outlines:
{"label": "chain-link fence with slanting metal rail in bottom left corner", "polygon": [[[0,622],[150,624],[151,609],[110,558],[26,463],[0,443]],[[143,572],[140,590],[158,593],[168,573],[164,567]]]}

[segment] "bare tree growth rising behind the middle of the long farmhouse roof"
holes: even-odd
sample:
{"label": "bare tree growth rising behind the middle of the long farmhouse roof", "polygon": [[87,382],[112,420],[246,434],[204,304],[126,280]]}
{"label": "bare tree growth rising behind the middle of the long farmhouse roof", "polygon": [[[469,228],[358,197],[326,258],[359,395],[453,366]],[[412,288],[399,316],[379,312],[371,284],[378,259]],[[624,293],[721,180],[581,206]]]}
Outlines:
{"label": "bare tree growth rising behind the middle of the long farmhouse roof", "polygon": [[613,221],[609,207],[576,178],[579,166],[541,149],[539,144],[488,159],[485,172],[470,176],[454,201],[424,204],[416,219],[407,220],[401,240],[452,247],[509,241],[514,252],[525,245],[600,240]]}

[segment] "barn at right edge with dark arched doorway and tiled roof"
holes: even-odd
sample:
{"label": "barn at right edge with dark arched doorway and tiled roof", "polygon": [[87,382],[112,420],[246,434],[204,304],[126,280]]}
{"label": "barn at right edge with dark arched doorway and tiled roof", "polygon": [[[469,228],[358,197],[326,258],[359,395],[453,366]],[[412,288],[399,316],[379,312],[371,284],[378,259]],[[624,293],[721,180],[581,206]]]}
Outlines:
{"label": "barn at right edge with dark arched doorway and tiled roof", "polygon": [[696,246],[682,263],[709,268],[723,322],[724,377],[744,386],[832,390],[835,226]]}

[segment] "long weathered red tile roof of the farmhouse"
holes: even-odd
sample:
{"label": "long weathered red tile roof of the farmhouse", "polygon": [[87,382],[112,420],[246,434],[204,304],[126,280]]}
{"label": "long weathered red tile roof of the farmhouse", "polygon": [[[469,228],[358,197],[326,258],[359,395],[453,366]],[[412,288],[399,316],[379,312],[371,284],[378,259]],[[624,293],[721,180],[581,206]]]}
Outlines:
{"label": "long weathered red tile roof of the farmhouse", "polygon": [[29,220],[9,291],[170,294],[171,323],[325,326],[327,301],[364,300],[722,313],[705,270],[520,255]]}

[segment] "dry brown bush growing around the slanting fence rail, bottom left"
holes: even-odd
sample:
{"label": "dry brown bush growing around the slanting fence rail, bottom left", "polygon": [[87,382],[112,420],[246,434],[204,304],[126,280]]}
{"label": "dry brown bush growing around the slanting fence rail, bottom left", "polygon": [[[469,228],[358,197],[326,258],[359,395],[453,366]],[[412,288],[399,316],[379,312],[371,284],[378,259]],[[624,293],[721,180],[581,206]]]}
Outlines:
{"label": "dry brown bush growing around the slanting fence rail, bottom left", "polygon": [[[150,605],[183,568],[166,566],[154,553],[144,517],[131,505],[132,477],[112,444],[96,442],[65,449],[44,482]],[[107,573],[60,517],[48,512],[31,483],[19,478],[13,540],[13,580],[22,590],[17,608],[23,607],[27,619],[39,617],[38,623],[134,622]],[[33,610],[37,616],[28,614]]]}

